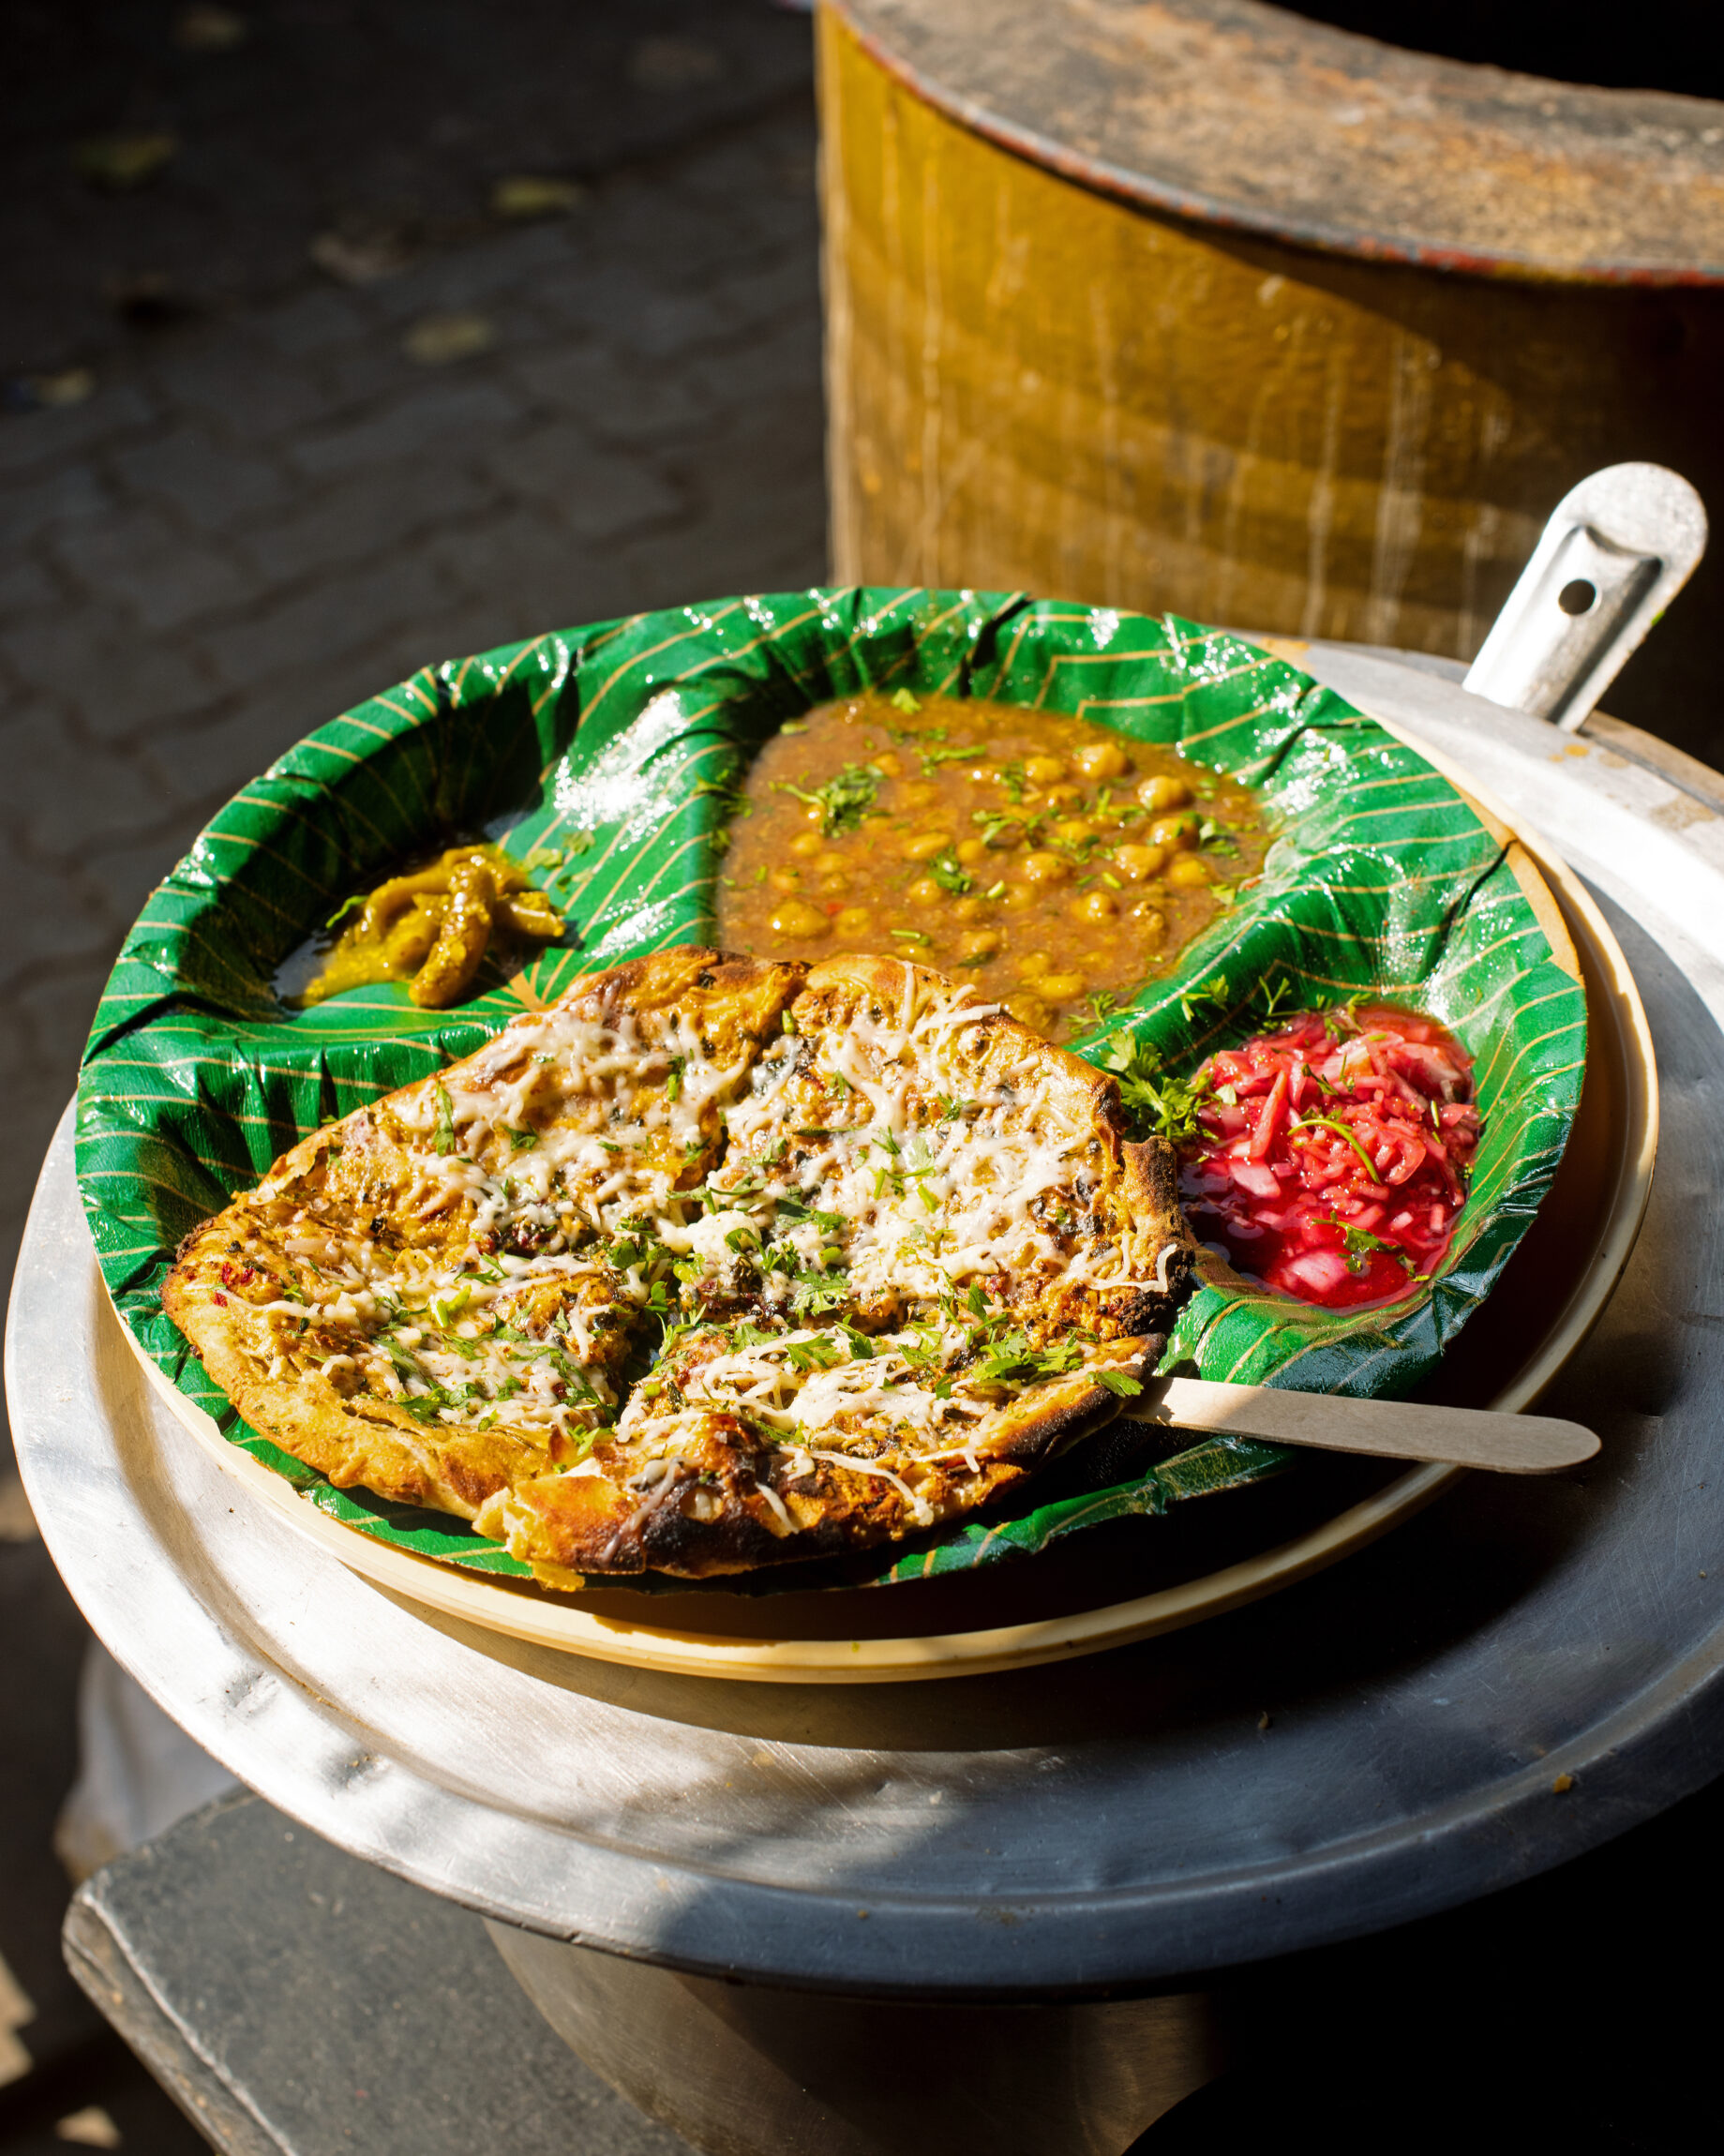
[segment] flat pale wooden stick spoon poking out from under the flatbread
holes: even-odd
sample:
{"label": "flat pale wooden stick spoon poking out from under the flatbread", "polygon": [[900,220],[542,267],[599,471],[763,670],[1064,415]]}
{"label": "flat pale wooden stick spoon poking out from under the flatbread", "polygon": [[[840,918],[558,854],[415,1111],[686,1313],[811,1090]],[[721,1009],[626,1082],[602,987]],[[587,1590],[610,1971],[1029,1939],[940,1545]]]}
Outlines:
{"label": "flat pale wooden stick spoon poking out from under the flatbread", "polygon": [[1556,1475],[1590,1460],[1599,1440],[1552,1414],[1433,1408],[1422,1399],[1343,1399],[1269,1384],[1149,1378],[1127,1414],[1172,1429],[1211,1429],[1265,1445],[1312,1445],[1379,1460],[1442,1460],[1500,1475]]}

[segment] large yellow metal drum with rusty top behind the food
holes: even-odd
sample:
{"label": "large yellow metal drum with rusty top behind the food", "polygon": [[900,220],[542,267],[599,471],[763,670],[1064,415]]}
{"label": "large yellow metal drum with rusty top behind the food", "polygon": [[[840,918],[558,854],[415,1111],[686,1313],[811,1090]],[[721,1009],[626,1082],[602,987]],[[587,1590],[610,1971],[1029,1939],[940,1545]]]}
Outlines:
{"label": "large yellow metal drum with rusty top behind the food", "polygon": [[[1588,470],[1724,505],[1724,106],[1237,0],[828,0],[821,121],[840,578],[1472,658]],[[1612,696],[1702,755],[1720,604]]]}

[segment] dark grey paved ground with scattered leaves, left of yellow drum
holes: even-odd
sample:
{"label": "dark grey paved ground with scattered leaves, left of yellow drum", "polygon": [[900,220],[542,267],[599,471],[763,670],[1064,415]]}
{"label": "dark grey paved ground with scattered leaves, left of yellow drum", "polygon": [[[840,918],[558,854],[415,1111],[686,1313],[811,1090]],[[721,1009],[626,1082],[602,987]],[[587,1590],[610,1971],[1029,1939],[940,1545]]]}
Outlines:
{"label": "dark grey paved ground with scattered leaves, left of yellow drum", "polygon": [[[235,19],[250,34],[222,47]],[[114,951],[211,811],[427,660],[817,580],[825,500],[804,17],[41,4],[11,6],[6,39],[26,93],[0,149],[11,1279]],[[116,127],[179,149],[101,194],[71,144]],[[513,222],[489,207],[511,175],[582,192]],[[47,1854],[82,1630],[4,1468],[0,1537],[32,1658],[28,1742],[0,1768],[0,1951],[43,2061],[91,2040]],[[0,2143],[24,2145],[6,2102]]]}

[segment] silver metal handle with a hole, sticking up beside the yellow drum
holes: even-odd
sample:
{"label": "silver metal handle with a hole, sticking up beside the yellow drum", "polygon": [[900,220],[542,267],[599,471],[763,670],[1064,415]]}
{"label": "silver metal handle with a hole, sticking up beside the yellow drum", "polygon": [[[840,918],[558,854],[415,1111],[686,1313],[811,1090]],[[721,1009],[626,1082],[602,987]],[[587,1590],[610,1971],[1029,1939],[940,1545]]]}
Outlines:
{"label": "silver metal handle with a hole, sticking up beside the yellow drum", "polygon": [[1573,733],[1707,552],[1707,509],[1662,464],[1610,464],[1571,487],[1465,688]]}

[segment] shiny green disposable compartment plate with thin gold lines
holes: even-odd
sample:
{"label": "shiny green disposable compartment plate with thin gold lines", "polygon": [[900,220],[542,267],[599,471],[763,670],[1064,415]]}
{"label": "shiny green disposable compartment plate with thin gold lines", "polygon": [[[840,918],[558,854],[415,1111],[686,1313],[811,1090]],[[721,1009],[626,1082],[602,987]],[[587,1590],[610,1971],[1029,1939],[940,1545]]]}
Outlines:
{"label": "shiny green disposable compartment plate with thin gold lines", "polygon": [[[1280,832],[1261,882],[1108,1035],[1075,1041],[1080,1054],[1136,1035],[1190,1067],[1256,1031],[1265,992],[1289,981],[1287,1009],[1358,990],[1418,1005],[1474,1056],[1485,1136],[1431,1287],[1390,1311],[1327,1313],[1207,1261],[1164,1367],[1403,1393],[1489,1294],[1562,1158],[1586,1000],[1500,834],[1412,748],[1295,666],[1172,617],[871,589],[636,614],[429,666],[289,750],[151,897],[97,1009],[78,1177],[114,1304],[181,1393],[334,1518],[425,1557],[526,1574],[461,1522],[334,1490],[248,1429],[162,1315],[162,1279],[179,1240],[289,1145],[472,1052],[524,998],[493,972],[459,1011],[420,1011],[403,985],[291,1011],[276,970],[403,854],[481,830],[530,862],[573,925],[567,946],[526,968],[541,1000],[578,972],[709,940],[724,780],[782,720],[866,686],[1069,711],[1261,789]],[[1041,1550],[1289,1460],[1209,1440],[1110,1488],[1065,1483],[1015,1518],[950,1529],[868,1576],[920,1580]],[[806,1567],[782,1585],[808,1585]]]}

